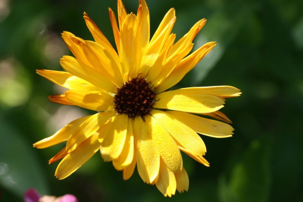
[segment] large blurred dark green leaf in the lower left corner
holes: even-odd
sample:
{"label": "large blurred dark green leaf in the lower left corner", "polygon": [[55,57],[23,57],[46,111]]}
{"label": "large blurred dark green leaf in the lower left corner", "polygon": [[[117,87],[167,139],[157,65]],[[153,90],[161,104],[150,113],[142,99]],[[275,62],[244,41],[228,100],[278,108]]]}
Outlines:
{"label": "large blurred dark green leaf in the lower left corner", "polygon": [[33,154],[32,144],[22,137],[16,127],[0,121],[0,181],[1,186],[22,197],[33,187],[41,194],[49,194],[48,183]]}

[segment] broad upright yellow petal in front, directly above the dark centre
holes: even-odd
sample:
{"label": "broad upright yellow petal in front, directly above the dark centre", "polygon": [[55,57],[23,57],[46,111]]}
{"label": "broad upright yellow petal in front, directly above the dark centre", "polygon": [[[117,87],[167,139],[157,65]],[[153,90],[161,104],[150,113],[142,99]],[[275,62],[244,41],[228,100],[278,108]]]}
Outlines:
{"label": "broad upright yellow petal in front, directly above the dark centre", "polygon": [[120,59],[122,76],[129,79],[129,72],[137,67],[138,23],[135,14],[128,14],[120,29]]}

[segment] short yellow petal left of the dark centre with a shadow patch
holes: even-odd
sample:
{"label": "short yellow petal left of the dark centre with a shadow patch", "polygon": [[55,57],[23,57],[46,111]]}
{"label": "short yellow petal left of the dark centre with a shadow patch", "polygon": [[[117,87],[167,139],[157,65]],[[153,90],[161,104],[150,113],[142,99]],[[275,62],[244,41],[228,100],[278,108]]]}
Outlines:
{"label": "short yellow petal left of the dark centre with a shadow patch", "polygon": [[94,111],[106,111],[114,108],[112,100],[107,93],[96,94],[87,91],[69,90],[65,91],[66,98],[73,104]]}

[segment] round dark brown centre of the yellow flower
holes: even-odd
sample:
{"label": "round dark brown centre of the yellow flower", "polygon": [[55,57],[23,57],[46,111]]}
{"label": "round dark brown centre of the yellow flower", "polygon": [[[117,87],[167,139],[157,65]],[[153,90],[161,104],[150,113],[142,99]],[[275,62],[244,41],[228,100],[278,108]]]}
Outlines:
{"label": "round dark brown centre of the yellow flower", "polygon": [[127,114],[128,117],[149,114],[155,103],[155,92],[151,90],[150,83],[144,78],[137,77],[126,82],[115,94],[115,110],[119,114]]}

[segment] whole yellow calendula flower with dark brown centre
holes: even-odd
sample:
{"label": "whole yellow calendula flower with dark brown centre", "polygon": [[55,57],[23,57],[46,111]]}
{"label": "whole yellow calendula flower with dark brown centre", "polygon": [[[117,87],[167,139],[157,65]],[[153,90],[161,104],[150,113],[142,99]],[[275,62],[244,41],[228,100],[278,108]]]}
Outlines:
{"label": "whole yellow calendula flower with dark brown centre", "polygon": [[240,92],[231,86],[181,88],[167,91],[215,46],[209,42],[188,55],[193,39],[205,25],[198,21],[175,42],[171,29],[175,10],[164,16],[150,39],[149,11],[139,0],[137,15],[127,14],[118,0],[118,23],[109,8],[117,51],[84,13],[95,39],[86,41],[64,31],[62,38],[75,57],[63,56],[65,71],[37,70],[37,73],[69,90],[52,95],[53,102],[77,105],[98,113],[67,124],[51,137],[34,144],[37,148],[65,142],[49,163],[61,158],[55,176],[68,177],[100,150],[104,161],[112,161],[123,179],[132,176],[137,165],[142,180],[155,184],[165,196],[176,189],[188,190],[188,175],[181,152],[205,166],[206,147],[197,134],[230,137],[233,128],[218,110],[225,98]]}

